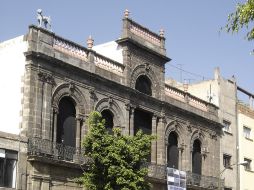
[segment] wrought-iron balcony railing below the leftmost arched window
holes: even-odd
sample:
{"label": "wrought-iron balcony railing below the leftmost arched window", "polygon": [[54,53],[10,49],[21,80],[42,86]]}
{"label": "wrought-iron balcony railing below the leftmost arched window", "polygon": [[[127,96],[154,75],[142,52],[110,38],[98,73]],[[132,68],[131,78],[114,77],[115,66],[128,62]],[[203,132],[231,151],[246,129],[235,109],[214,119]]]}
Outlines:
{"label": "wrought-iron balcony railing below the leftmost arched window", "polygon": [[84,163],[83,150],[40,138],[29,138],[28,155],[59,161]]}

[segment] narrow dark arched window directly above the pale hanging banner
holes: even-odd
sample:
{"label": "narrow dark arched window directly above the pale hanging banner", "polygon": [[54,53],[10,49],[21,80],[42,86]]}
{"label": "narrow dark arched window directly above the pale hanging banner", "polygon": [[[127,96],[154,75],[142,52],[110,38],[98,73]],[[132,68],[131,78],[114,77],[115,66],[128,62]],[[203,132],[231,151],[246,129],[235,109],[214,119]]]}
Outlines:
{"label": "narrow dark arched window directly above the pale hanging banner", "polygon": [[175,132],[171,132],[168,136],[167,147],[168,167],[178,169],[178,154],[177,134]]}

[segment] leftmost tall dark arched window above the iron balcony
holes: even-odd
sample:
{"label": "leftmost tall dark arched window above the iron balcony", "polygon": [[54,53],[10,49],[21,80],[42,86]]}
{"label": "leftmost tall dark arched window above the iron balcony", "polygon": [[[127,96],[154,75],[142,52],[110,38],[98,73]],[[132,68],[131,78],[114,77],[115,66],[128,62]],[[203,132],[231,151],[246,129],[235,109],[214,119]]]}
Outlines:
{"label": "leftmost tall dark arched window above the iron balcony", "polygon": [[76,109],[69,97],[64,97],[59,102],[57,117],[57,143],[76,146]]}

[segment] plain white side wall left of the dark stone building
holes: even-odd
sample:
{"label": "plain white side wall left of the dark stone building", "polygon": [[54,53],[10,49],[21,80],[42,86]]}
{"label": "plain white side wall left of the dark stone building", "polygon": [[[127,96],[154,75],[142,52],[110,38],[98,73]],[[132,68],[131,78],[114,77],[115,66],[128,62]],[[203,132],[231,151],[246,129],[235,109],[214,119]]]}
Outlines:
{"label": "plain white side wall left of the dark stone building", "polygon": [[22,109],[22,76],[24,52],[28,48],[24,36],[0,43],[0,131],[18,134]]}

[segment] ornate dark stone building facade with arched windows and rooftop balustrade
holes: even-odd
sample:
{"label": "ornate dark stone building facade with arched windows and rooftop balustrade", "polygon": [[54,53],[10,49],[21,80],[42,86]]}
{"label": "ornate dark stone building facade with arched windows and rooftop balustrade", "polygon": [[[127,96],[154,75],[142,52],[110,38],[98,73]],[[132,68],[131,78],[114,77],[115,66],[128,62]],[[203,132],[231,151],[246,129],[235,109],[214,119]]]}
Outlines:
{"label": "ornate dark stone building facade with arched windows and rooftop balustrade", "polygon": [[[187,172],[188,189],[216,189],[218,107],[165,83],[164,32],[123,19],[121,38],[87,48],[30,26],[24,37],[17,189],[81,189],[81,140],[92,110],[108,126],[154,134],[148,180],[166,189],[166,166]],[[109,51],[108,51],[109,50]],[[1,148],[1,147],[0,147]]]}

